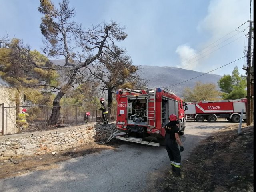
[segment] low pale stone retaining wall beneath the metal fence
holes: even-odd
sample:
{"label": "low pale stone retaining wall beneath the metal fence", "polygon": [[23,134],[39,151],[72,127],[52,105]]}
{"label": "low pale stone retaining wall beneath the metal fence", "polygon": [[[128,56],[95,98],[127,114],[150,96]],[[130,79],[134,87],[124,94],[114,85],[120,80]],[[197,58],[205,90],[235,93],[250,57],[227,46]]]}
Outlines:
{"label": "low pale stone retaining wall beneath the metal fence", "polygon": [[33,156],[70,149],[91,142],[104,142],[116,131],[116,123],[90,123],[42,132],[0,136],[0,159]]}

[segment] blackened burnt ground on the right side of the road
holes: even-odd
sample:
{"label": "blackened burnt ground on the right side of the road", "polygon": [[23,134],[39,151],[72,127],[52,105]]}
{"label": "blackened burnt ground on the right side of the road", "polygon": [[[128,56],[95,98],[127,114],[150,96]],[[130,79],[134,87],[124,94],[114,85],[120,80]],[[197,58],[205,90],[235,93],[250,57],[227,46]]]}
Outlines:
{"label": "blackened burnt ground on the right side of the road", "polygon": [[232,126],[203,140],[182,162],[181,177],[166,171],[159,192],[253,192],[253,125]]}

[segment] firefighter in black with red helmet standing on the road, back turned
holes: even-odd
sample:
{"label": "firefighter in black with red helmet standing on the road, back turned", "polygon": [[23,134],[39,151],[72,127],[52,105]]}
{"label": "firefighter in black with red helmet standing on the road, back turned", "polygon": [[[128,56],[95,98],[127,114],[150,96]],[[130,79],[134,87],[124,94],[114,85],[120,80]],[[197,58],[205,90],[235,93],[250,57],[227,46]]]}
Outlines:
{"label": "firefighter in black with red helmet standing on the road, back turned", "polygon": [[[182,146],[179,136],[179,128],[177,126],[179,122],[177,116],[175,114],[171,114],[169,116],[169,120],[170,122],[164,126],[166,131],[164,141],[171,161],[172,171],[175,176],[180,176],[180,151],[183,151],[184,147]],[[178,144],[180,145],[180,150]]]}

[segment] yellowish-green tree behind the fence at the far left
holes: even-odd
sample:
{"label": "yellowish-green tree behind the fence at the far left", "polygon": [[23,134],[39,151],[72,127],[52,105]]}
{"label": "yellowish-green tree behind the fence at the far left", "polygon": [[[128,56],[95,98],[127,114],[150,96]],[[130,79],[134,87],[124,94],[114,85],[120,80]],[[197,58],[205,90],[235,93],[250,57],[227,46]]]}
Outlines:
{"label": "yellowish-green tree behind the fence at the far left", "polygon": [[36,50],[24,48],[16,38],[5,45],[0,48],[0,76],[24,93],[24,102],[49,104],[52,94],[45,85],[58,85],[58,74],[48,68],[49,59]]}

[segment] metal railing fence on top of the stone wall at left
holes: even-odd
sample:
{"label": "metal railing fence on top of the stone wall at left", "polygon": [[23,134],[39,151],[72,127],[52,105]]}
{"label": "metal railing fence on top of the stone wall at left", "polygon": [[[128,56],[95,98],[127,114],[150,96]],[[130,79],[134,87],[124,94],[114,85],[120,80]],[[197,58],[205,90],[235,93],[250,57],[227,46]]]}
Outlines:
{"label": "metal railing fence on top of the stone wall at left", "polygon": [[[27,123],[25,129],[18,125],[18,114],[23,108],[27,109]],[[106,117],[109,121],[116,120],[116,108],[108,108]],[[86,123],[86,112],[90,112],[88,122],[103,122],[102,112],[96,105],[88,106],[60,106],[57,124],[51,125],[48,120],[52,114],[52,107],[48,106],[4,106],[0,104],[0,134],[15,134],[20,132],[34,132],[52,130],[60,127],[77,126]]]}

